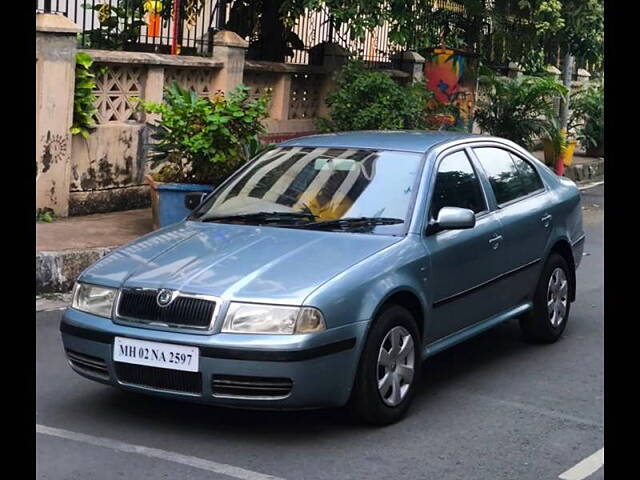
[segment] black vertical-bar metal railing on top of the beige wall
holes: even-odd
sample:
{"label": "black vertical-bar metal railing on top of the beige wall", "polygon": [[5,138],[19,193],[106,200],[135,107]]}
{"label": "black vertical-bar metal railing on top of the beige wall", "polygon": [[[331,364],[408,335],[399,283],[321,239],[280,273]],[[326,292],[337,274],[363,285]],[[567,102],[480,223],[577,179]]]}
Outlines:
{"label": "black vertical-bar metal railing on top of the beige wall", "polygon": [[[235,0],[37,0],[36,11],[60,13],[73,20],[82,29],[81,48],[209,55],[216,30],[237,31],[250,43],[257,40],[257,26],[248,30],[246,27],[249,21],[255,23],[257,16],[231,19],[235,3]],[[173,19],[176,4],[181,5],[177,25]],[[410,2],[408,5],[411,8]],[[154,8],[159,12],[149,11]],[[242,11],[244,16],[252,14]],[[420,10],[416,15],[424,21],[418,22],[422,26],[416,29],[415,39],[427,38],[425,29],[439,37],[455,23],[450,20],[464,16],[464,7],[459,1],[436,0],[433,11]],[[236,26],[239,24],[252,33],[240,32],[241,28]],[[394,51],[402,49],[390,42],[389,30],[389,24],[383,24],[367,31],[363,38],[352,38],[350,25],[337,26],[326,8],[306,10],[287,31],[289,54],[285,62],[308,64],[309,52],[315,45],[335,42],[370,66],[387,67]],[[416,43],[403,47],[419,46]],[[250,58],[261,60],[258,56],[249,49]]]}

